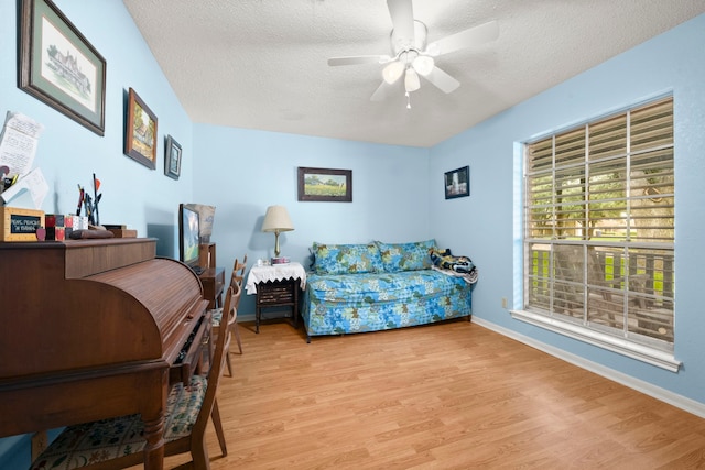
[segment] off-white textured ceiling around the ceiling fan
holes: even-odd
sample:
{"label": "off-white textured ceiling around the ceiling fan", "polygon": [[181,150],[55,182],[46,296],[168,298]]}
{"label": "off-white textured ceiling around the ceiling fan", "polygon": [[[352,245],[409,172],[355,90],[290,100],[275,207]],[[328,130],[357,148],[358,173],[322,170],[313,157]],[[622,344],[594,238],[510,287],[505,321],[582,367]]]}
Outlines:
{"label": "off-white textured ceiling around the ceiling fan", "polygon": [[[413,0],[429,42],[490,20],[499,39],[437,58],[460,81],[422,79],[370,101],[390,54],[384,0],[123,0],[194,122],[431,146],[705,12],[704,0]],[[147,98],[147,97],[145,97]]]}

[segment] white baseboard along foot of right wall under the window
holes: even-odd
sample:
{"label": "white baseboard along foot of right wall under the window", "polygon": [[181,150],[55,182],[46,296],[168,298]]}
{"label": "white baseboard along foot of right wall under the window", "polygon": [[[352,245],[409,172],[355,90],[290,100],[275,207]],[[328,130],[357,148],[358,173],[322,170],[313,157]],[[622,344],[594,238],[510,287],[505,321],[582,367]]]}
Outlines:
{"label": "white baseboard along foot of right wall under the window", "polygon": [[[513,313],[513,311],[512,311]],[[555,358],[564,360],[573,365],[577,365],[578,368],[585,369],[587,371],[594,372],[598,375],[601,375],[606,379],[620,383],[625,386],[633,389],[638,392],[652,396],[661,402],[665,402],[670,405],[673,405],[677,408],[681,408],[685,412],[692,413],[696,416],[705,418],[705,403],[696,402],[692,398],[687,398],[683,395],[679,395],[677,393],[673,393],[669,390],[661,389],[660,386],[653,385],[652,383],[644,382],[642,380],[636,379],[631,375],[627,375],[625,373],[618,372],[614,369],[609,369],[605,365],[598,364],[596,362],[589,361],[583,357],[572,354],[563,349],[555,348],[553,346],[549,346],[544,342],[538,341],[534,338],[518,334],[517,331],[510,330],[508,328],[501,327],[491,321],[487,321],[482,318],[478,318],[477,316],[473,316],[473,323],[481,326],[484,328],[496,331],[500,335],[503,335],[508,338],[514,339],[519,342],[528,345],[532,348],[535,348],[540,351],[543,351],[547,354],[551,354]]]}

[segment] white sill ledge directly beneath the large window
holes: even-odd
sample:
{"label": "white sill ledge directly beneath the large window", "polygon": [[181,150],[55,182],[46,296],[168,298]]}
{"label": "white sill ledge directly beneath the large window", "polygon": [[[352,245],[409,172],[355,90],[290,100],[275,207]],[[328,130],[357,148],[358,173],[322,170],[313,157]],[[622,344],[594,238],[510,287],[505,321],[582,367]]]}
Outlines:
{"label": "white sill ledge directly beneath the large window", "polygon": [[588,345],[597,346],[608,351],[637,359],[651,365],[677,372],[681,361],[673,357],[672,352],[662,351],[643,345],[638,345],[627,339],[615,338],[579,325],[562,321],[556,318],[549,318],[543,315],[533,314],[525,310],[510,310],[512,318],[538,327],[554,331],[570,338],[577,339]]}

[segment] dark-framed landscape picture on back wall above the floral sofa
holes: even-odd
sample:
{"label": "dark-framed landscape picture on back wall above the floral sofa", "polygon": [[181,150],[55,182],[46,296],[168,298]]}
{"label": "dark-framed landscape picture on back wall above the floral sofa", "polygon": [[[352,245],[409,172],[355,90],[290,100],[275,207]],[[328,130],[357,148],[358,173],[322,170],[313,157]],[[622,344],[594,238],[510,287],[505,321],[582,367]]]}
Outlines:
{"label": "dark-framed landscape picture on back wall above the floral sofa", "polygon": [[352,201],[352,171],[299,167],[299,200]]}

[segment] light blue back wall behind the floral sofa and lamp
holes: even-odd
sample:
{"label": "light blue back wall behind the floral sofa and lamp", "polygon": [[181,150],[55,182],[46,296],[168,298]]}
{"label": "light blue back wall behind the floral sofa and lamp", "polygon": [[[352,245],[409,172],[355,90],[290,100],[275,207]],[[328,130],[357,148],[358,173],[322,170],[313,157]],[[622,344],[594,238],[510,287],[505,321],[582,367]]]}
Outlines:
{"label": "light blue back wall behind the floral sofa and lamp", "polygon": [[[267,207],[286,207],[294,231],[280,234],[281,254],[308,262],[314,241],[359,243],[433,237],[425,149],[310,138],[196,124],[195,199],[216,206],[212,241],[228,271],[236,258],[274,255],[274,236],[261,231]],[[299,201],[299,166],[352,171],[352,203]],[[229,274],[228,274],[229,275]],[[254,313],[253,296],[240,309]]]}

